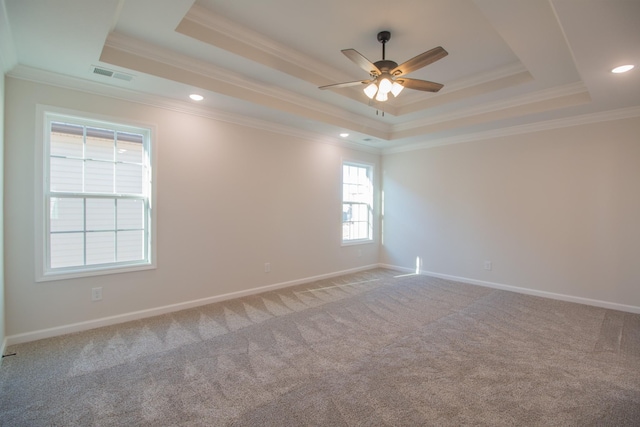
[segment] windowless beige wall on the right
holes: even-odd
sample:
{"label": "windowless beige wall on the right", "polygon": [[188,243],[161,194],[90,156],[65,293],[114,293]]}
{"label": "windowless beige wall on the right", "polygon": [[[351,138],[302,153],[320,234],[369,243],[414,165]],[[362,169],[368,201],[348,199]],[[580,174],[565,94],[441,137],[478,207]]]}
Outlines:
{"label": "windowless beige wall on the right", "polygon": [[382,263],[640,312],[638,118],[390,154],[383,170]]}

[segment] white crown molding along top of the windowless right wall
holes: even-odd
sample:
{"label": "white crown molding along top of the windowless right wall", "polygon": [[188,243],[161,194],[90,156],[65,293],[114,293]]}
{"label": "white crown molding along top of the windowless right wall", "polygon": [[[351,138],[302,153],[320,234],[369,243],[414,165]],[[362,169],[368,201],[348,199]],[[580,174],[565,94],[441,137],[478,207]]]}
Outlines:
{"label": "white crown molding along top of the windowless right wall", "polygon": [[461,144],[465,142],[481,141],[484,139],[500,138],[525,133],[540,132],[545,130],[559,129],[572,126],[588,125],[590,123],[608,122],[613,120],[624,120],[640,117],[640,107],[620,108],[616,110],[603,111],[598,113],[582,114],[579,116],[566,117],[562,119],[546,120],[543,122],[512,126],[508,128],[471,133],[450,138],[434,139],[427,142],[393,147],[382,150],[382,154],[403,153],[408,151],[423,150],[427,148],[439,147],[443,145]]}

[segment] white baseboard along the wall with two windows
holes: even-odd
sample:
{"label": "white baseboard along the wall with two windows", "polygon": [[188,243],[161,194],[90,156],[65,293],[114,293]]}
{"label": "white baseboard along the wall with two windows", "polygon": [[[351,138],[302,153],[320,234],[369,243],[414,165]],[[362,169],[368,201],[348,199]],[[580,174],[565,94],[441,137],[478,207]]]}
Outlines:
{"label": "white baseboard along the wall with two windows", "polygon": [[188,308],[199,307],[202,305],[212,304],[215,302],[225,301],[234,298],[240,298],[249,295],[255,295],[262,292],[273,291],[275,289],[287,288],[290,286],[311,283],[317,280],[329,279],[331,277],[342,276],[349,273],[357,273],[359,271],[371,270],[377,268],[377,264],[367,265],[363,267],[351,268],[348,270],[336,271],[318,276],[306,277],[303,279],[291,280],[288,282],[276,283],[273,285],[260,286],[257,288],[246,289],[238,292],[230,292],[227,294],[216,295],[212,297],[202,298],[193,301],[185,301],[177,304],[165,305],[162,307],[150,308],[147,310],[134,311],[131,313],[118,314],[115,316],[103,317],[95,320],[87,320],[85,322],[72,323],[69,325],[56,326],[54,328],[40,329],[22,334],[10,335],[3,342],[3,350],[6,346],[22,344],[25,342],[36,341],[43,338],[51,338],[59,335],[70,334],[73,332],[86,331],[89,329],[100,328],[103,326],[115,325],[118,323],[129,322],[132,320],[144,319],[146,317],[158,316],[160,314],[172,313],[175,311],[186,310]]}

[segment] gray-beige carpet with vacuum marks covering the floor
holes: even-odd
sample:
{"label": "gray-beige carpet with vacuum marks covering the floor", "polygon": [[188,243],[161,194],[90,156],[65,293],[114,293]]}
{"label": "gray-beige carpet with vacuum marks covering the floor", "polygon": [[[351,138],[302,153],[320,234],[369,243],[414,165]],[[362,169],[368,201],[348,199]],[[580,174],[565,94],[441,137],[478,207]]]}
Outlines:
{"label": "gray-beige carpet with vacuum marks covering the floor", "polygon": [[7,352],[3,426],[640,425],[640,315],[382,269]]}

